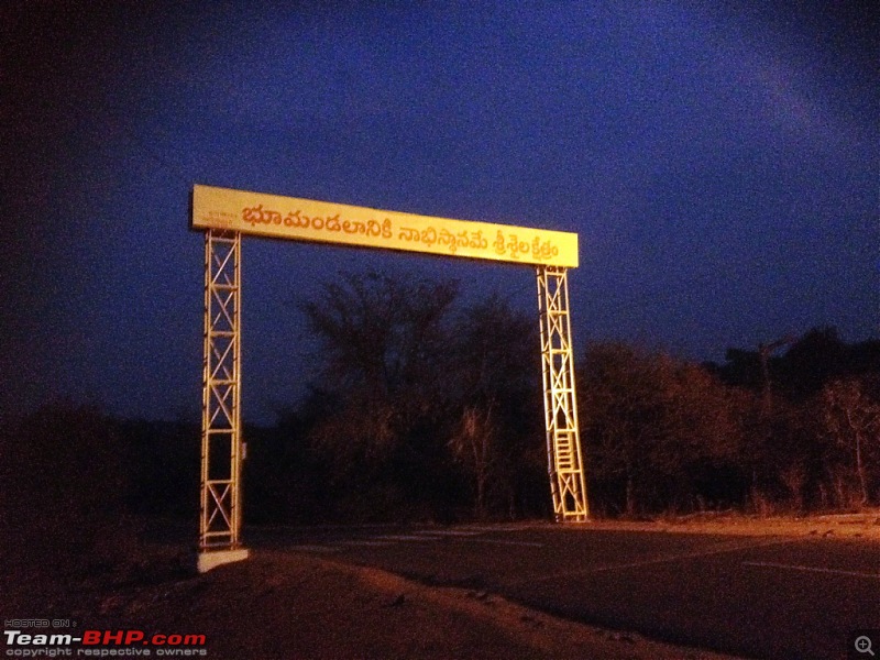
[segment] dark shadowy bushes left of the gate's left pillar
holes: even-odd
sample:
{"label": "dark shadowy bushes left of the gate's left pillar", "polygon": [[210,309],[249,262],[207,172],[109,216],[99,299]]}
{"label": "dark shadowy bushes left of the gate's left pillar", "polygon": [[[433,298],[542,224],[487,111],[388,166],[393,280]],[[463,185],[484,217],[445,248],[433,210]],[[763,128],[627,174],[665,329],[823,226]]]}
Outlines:
{"label": "dark shadowy bushes left of the gate's left pillar", "polygon": [[9,576],[105,574],[136,563],[145,516],[183,516],[194,538],[198,424],[121,420],[45,405],[0,425],[0,560]]}

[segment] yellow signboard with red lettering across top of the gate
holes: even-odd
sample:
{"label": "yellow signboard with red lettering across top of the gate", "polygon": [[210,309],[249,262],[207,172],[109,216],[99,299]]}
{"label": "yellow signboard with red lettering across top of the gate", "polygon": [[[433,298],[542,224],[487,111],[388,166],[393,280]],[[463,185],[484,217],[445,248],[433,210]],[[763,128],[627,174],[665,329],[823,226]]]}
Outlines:
{"label": "yellow signboard with red lettering across top of the gate", "polygon": [[193,228],[516,264],[578,267],[578,234],[196,185]]}

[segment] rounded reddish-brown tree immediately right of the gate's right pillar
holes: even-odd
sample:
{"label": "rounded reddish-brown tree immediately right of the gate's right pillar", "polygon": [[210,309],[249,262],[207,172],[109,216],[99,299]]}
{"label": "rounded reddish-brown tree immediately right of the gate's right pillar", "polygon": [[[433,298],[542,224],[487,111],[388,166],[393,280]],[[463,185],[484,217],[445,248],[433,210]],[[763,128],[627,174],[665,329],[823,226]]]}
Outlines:
{"label": "rounded reddish-brown tree immediately right of the gate's right pillar", "polygon": [[707,370],[592,344],[580,372],[588,477],[602,497],[622,497],[628,516],[739,497],[737,402]]}

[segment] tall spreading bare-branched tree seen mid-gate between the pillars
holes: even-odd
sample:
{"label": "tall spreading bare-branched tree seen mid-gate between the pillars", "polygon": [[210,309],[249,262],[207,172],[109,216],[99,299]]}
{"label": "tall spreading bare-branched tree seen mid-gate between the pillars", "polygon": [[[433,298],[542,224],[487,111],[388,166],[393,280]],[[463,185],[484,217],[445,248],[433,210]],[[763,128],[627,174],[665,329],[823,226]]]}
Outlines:
{"label": "tall spreading bare-branched tree seen mid-gate between the pillars", "polygon": [[438,374],[457,298],[451,280],[369,272],[345,274],[300,305],[320,346],[315,385],[332,402],[310,441],[365,516],[447,487],[438,457],[450,407]]}

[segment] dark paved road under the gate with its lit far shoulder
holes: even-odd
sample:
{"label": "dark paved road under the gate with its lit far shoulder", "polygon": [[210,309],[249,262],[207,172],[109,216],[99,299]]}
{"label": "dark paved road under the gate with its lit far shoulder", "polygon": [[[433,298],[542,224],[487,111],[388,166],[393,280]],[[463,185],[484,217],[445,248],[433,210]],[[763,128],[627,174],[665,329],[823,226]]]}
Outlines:
{"label": "dark paved road under the gate with its lit far shoulder", "polygon": [[878,520],[274,529],[254,542],[674,644],[824,659],[846,657],[855,630],[880,627]]}

